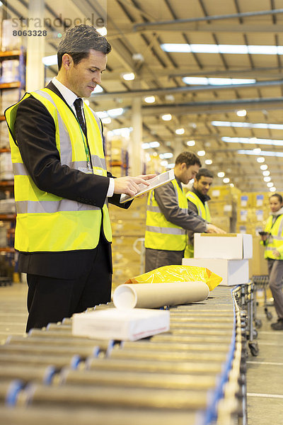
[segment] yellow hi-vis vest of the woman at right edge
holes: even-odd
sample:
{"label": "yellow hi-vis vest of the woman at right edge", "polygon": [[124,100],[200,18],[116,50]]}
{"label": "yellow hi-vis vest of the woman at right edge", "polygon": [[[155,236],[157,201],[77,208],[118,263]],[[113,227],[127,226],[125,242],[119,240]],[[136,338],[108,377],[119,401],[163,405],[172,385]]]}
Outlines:
{"label": "yellow hi-vis vest of the woman at right edge", "polygon": [[[283,215],[279,215],[272,225],[272,215],[267,218],[265,232],[270,235],[265,242],[265,259],[283,260]],[[274,256],[272,251],[279,251],[280,256]]]}

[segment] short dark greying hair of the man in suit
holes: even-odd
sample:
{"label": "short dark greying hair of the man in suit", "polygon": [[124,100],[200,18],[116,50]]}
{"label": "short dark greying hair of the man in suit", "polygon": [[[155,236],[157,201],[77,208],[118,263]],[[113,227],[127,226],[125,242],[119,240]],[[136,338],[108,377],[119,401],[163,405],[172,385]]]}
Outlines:
{"label": "short dark greying hair of the man in suit", "polygon": [[62,67],[62,57],[68,53],[78,64],[85,57],[88,57],[89,51],[97,50],[105,55],[111,51],[111,45],[106,38],[98,33],[96,28],[91,25],[78,25],[64,33],[62,40],[57,48],[58,69]]}

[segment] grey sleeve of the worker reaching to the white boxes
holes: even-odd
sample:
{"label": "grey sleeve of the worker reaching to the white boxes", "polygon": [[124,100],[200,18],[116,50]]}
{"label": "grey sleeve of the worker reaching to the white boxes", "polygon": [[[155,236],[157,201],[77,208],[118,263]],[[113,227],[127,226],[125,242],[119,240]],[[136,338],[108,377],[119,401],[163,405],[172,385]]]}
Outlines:
{"label": "grey sleeve of the worker reaching to the white boxes", "polygon": [[154,189],[154,196],[166,220],[173,223],[173,225],[183,227],[186,230],[193,230],[197,233],[207,231],[206,222],[202,217],[190,210],[184,212],[179,207],[173,183],[170,182]]}

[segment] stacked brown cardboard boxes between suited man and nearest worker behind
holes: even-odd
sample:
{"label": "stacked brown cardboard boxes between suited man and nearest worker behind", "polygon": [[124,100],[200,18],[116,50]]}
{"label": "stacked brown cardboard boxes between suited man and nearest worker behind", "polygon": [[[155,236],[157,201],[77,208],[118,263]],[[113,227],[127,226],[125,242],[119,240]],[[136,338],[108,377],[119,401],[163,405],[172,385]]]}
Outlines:
{"label": "stacked brown cardboard boxes between suited man and nearest worker behind", "polygon": [[[115,289],[121,283],[144,272],[142,269],[144,257],[144,233],[146,226],[147,197],[135,199],[128,210],[109,205],[112,225],[112,287]],[[141,240],[137,240],[141,239]],[[134,244],[141,251],[134,251]]]}

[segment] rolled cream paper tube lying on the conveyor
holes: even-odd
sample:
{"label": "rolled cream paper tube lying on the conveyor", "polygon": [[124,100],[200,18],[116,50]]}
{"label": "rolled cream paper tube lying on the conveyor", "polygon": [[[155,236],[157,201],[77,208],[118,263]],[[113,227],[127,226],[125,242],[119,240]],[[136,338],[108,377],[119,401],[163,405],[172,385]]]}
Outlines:
{"label": "rolled cream paper tube lying on the conveyor", "polygon": [[136,283],[120,285],[115,289],[113,302],[120,309],[156,308],[163,305],[188,304],[207,299],[209,288],[206,283]]}

